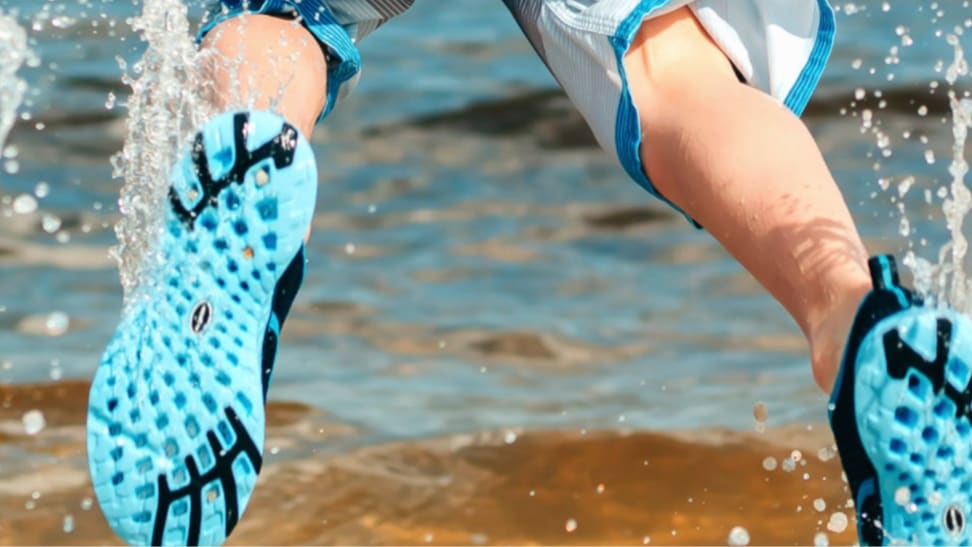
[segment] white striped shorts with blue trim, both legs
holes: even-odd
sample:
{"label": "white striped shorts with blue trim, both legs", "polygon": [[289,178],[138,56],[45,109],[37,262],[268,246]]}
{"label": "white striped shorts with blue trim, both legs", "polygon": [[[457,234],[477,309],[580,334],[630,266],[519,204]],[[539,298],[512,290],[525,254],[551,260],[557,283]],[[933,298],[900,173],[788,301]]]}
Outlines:
{"label": "white striped shorts with blue trim, both legs", "polygon": [[[244,12],[301,18],[330,56],[324,117],[357,80],[361,57],[354,44],[413,1],[219,0],[202,32]],[[643,20],[688,5],[743,79],[796,114],[817,85],[834,35],[825,0],[502,1],[601,146],[663,200],[641,165],[641,123],[621,63]]]}

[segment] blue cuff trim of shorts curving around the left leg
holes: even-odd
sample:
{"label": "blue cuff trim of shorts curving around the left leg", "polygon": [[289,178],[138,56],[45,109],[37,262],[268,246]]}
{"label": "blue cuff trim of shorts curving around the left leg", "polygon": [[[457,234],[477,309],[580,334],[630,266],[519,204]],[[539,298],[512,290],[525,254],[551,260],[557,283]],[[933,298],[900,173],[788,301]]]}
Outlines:
{"label": "blue cuff trim of shorts curving around the left leg", "polygon": [[341,87],[361,71],[361,54],[347,30],[334,17],[323,0],[219,0],[210,11],[211,19],[196,37],[201,41],[217,24],[244,13],[284,15],[296,11],[307,30],[326,49],[331,59],[327,67],[327,104],[318,121],[337,103]]}

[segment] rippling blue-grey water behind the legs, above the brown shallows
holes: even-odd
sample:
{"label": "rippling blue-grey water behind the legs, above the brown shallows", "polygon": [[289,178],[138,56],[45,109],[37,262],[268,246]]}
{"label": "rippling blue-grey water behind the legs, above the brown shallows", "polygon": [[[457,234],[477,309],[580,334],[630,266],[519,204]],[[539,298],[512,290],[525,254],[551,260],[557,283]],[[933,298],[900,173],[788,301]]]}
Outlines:
{"label": "rippling blue-grey water behind the legs, above the brown shallows", "polygon": [[[924,4],[863,5],[838,14],[806,120],[870,250],[933,257],[948,232],[924,190],[950,181],[952,147],[952,50],[935,32],[972,13],[948,3],[933,21]],[[0,172],[0,381],[17,384],[87,379],[114,328],[120,182],[108,159],[122,147],[127,94],[115,57],[131,66],[142,51],[125,23],[140,6],[45,6],[0,0],[19,10],[42,61],[19,72],[30,84],[29,119],[10,136],[20,169]],[[310,270],[271,390],[348,433],[282,454],[481,431],[749,430],[757,401],[770,426],[823,421],[796,326],[594,147],[499,2],[419,2],[361,47],[361,84],[314,135]],[[907,176],[916,181],[899,198]],[[24,194],[37,211],[13,213]]]}

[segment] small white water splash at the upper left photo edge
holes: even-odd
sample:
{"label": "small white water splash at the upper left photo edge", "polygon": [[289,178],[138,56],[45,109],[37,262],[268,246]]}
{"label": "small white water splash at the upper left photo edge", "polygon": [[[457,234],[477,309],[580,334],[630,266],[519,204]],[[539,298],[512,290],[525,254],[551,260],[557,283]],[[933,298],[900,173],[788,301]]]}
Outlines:
{"label": "small white water splash at the upper left photo edge", "polygon": [[10,155],[5,152],[4,143],[27,91],[27,82],[17,78],[17,71],[25,63],[36,65],[37,62],[27,47],[27,32],[13,15],[0,10],[0,151],[4,151],[4,157]]}

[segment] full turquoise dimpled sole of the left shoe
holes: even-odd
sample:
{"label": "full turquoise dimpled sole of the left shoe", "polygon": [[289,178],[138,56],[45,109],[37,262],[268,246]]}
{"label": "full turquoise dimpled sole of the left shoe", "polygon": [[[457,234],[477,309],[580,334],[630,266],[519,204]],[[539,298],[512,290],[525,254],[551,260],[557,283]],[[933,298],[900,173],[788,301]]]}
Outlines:
{"label": "full turquoise dimpled sole of the left shoe", "polygon": [[266,112],[213,119],[173,171],[157,264],[88,403],[92,482],[125,541],[220,544],[245,509],[316,181],[310,146]]}

